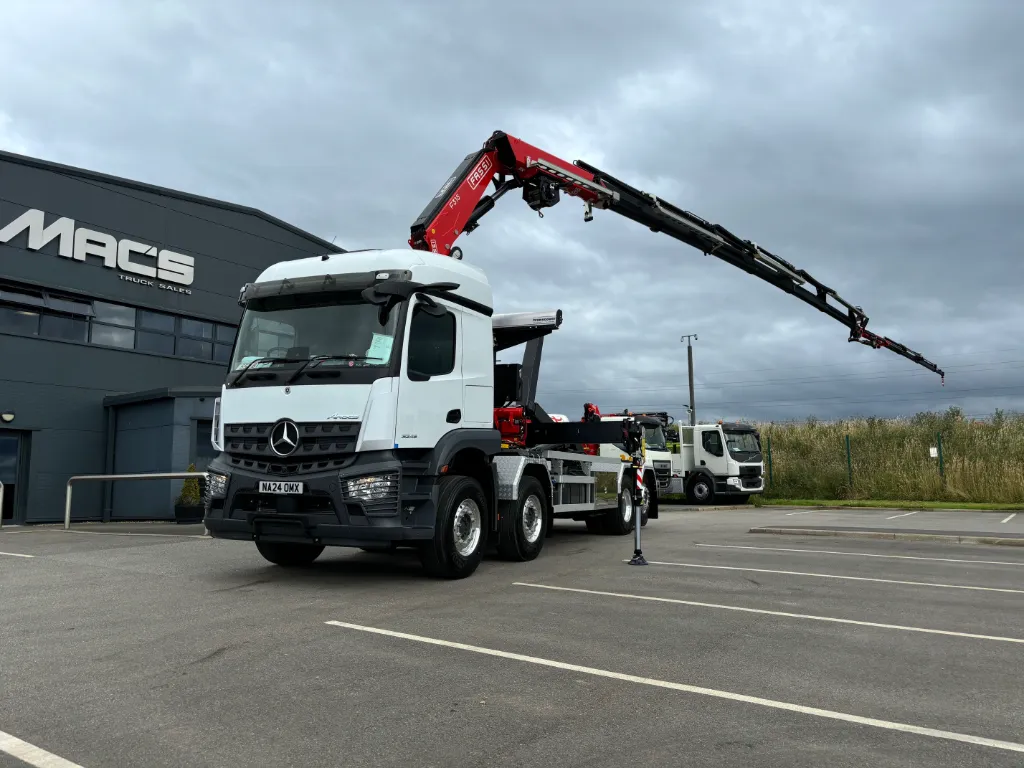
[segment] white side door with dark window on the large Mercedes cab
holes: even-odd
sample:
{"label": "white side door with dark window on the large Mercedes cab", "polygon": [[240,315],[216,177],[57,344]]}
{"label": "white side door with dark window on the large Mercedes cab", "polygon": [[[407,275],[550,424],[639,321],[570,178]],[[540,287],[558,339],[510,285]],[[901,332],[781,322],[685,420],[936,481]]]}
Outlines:
{"label": "white side door with dark window on the large Mercedes cab", "polygon": [[410,299],[395,418],[395,447],[433,447],[463,421],[462,312],[441,299],[444,313]]}

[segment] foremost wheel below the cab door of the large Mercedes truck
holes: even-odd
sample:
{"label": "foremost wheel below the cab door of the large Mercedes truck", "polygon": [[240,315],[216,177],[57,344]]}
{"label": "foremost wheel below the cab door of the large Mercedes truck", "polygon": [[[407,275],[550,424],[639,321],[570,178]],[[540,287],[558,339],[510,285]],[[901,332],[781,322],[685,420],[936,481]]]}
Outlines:
{"label": "foremost wheel below the cab door of the large Mercedes truck", "polygon": [[465,579],[483,559],[487,502],[472,477],[452,475],[439,484],[434,536],[420,547],[420,561],[432,577]]}

